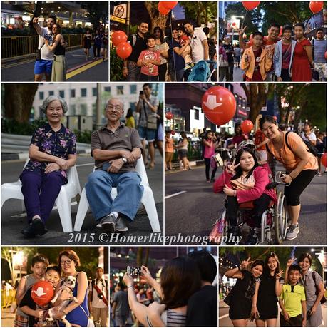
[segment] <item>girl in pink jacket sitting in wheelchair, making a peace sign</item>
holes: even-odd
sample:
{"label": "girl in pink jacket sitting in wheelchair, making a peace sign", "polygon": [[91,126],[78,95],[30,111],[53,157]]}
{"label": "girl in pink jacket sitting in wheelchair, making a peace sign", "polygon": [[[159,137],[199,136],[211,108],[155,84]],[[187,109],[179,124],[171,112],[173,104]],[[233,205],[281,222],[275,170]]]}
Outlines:
{"label": "girl in pink jacket sitting in wheelchair, making a peace sign", "polygon": [[225,220],[229,222],[227,235],[230,240],[240,237],[240,227],[237,225],[238,209],[246,203],[252,203],[252,220],[254,227],[246,239],[246,245],[256,245],[260,237],[261,217],[270,203],[277,203],[275,190],[266,189],[270,183],[267,168],[257,163],[255,154],[250,148],[241,148],[237,151],[231,165],[227,165],[225,171],[215,181],[213,190],[215,193],[223,191],[227,198]]}

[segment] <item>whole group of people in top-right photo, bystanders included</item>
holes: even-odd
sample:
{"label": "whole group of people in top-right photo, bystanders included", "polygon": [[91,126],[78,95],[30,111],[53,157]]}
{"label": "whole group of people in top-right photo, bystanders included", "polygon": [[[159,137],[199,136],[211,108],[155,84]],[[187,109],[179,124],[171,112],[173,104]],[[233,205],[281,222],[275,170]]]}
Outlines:
{"label": "whole group of people in top-right photo, bystanders included", "polygon": [[317,29],[316,36],[309,39],[302,23],[282,27],[273,23],[267,36],[256,31],[245,42],[246,29],[240,29],[239,43],[232,45],[229,36],[219,41],[220,81],[237,81],[237,68],[244,71],[240,81],[327,81],[324,29]]}

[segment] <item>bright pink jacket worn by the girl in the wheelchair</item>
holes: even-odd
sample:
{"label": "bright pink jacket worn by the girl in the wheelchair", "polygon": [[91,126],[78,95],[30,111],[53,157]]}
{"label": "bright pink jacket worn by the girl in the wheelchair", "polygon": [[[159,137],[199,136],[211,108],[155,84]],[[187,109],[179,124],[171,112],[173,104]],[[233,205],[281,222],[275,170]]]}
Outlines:
{"label": "bright pink jacket worn by the girl in the wheelchair", "polygon": [[[252,200],[257,200],[260,196],[265,193],[277,204],[277,194],[273,189],[265,189],[265,186],[270,183],[269,174],[267,169],[262,166],[257,166],[253,171],[255,186],[250,190],[237,190],[237,201],[238,203],[251,202]],[[232,188],[230,184],[230,179],[232,175],[226,171],[220,175],[213,185],[213,190],[215,193],[221,193],[225,185]]]}

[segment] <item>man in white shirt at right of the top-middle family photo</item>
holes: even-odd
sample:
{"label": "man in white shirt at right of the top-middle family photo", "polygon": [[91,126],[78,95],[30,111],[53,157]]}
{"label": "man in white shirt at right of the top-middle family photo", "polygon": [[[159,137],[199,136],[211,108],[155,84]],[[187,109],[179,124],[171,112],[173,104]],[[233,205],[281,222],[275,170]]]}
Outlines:
{"label": "man in white shirt at right of the top-middle family photo", "polygon": [[187,21],[185,24],[185,31],[190,38],[191,56],[193,58],[193,63],[198,63],[198,61],[208,61],[208,43],[207,36],[201,30],[195,30],[193,23]]}

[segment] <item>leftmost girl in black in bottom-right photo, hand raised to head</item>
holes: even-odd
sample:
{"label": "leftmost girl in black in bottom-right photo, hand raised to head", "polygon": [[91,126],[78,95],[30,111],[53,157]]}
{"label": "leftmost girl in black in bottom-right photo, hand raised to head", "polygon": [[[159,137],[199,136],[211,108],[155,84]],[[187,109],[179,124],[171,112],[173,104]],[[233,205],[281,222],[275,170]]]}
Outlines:
{"label": "leftmost girl in black in bottom-right photo, hand raised to head", "polygon": [[[245,270],[250,264],[250,271]],[[234,327],[246,327],[252,309],[252,297],[255,294],[255,283],[260,283],[264,262],[262,260],[250,261],[250,257],[235,269],[227,270],[228,278],[237,278],[236,285],[225,298],[230,306],[229,318]]]}

